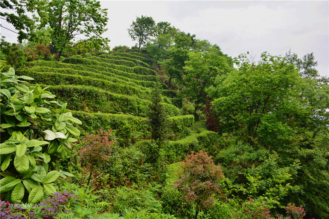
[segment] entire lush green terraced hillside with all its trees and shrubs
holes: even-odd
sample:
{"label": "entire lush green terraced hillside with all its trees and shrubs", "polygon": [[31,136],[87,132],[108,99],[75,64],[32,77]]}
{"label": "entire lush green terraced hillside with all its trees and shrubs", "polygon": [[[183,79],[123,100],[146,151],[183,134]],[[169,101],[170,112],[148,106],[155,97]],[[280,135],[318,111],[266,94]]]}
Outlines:
{"label": "entire lush green terraced hillside with all its trees and shrubs", "polygon": [[0,5],[1,218],[329,218],[313,53],[232,58],[143,15],[110,48],[97,0]]}

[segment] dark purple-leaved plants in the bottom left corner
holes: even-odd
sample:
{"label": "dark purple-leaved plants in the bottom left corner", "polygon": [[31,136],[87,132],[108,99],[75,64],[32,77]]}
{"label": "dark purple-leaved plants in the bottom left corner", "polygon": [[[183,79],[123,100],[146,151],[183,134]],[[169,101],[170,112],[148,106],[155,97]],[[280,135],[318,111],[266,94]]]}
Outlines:
{"label": "dark purple-leaved plants in the bottom left corner", "polygon": [[7,219],[25,219],[23,215],[13,215],[14,213],[22,212],[24,215],[28,215],[31,219],[54,219],[54,216],[57,215],[58,212],[64,210],[64,205],[68,202],[68,198],[77,198],[75,195],[71,195],[68,191],[64,191],[63,193],[52,193],[53,197],[49,196],[49,198],[45,199],[44,202],[38,204],[38,213],[36,213],[35,208],[26,209],[22,207],[15,207],[7,209],[7,203],[5,201],[0,202],[0,218]]}

